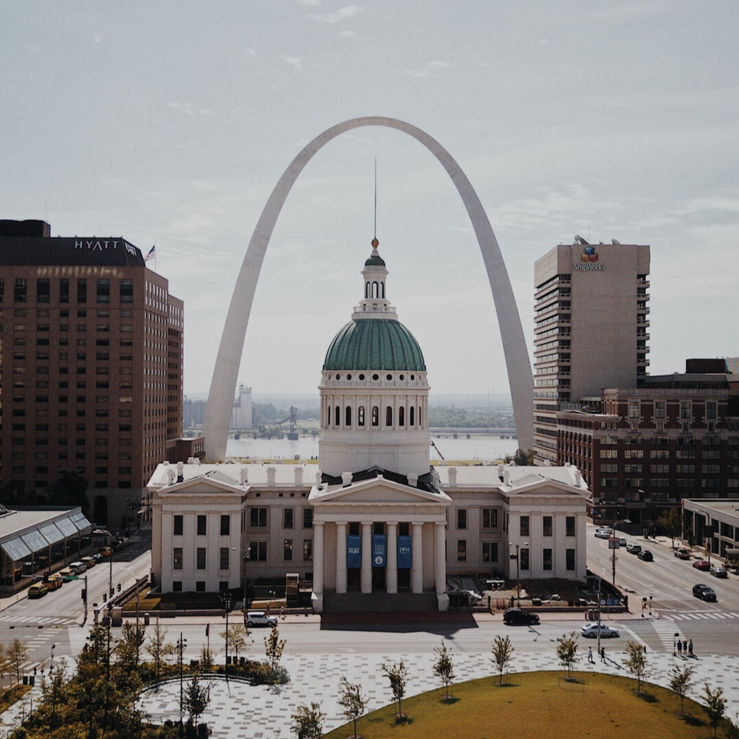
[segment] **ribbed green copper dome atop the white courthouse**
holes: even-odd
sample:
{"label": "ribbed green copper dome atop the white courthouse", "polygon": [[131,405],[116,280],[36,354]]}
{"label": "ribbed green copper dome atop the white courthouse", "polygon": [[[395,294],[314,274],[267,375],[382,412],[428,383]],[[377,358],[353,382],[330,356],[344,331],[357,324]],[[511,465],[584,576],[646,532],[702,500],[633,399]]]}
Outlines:
{"label": "ribbed green copper dome atop the white courthouse", "polygon": [[400,321],[360,319],[349,321],[333,338],[324,370],[355,372],[372,369],[403,369],[425,372],[418,341]]}

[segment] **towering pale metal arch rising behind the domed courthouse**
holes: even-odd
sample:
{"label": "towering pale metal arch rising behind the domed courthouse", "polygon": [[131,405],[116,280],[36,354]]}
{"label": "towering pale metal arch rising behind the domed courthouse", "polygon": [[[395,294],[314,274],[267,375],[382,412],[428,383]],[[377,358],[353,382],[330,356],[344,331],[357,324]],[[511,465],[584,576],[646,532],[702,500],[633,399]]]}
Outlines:
{"label": "towering pale metal arch rising behind the domed courthouse", "polygon": [[519,446],[531,449],[534,446],[534,379],[531,375],[531,362],[526,350],[526,342],[521,328],[521,319],[514,299],[511,281],[505,270],[503,256],[500,254],[497,239],[490,221],[483,209],[483,204],[472,188],[466,174],[437,140],[416,126],[396,118],[384,118],[369,115],[363,118],[352,118],[331,126],[316,136],[293,159],[270,194],[269,200],[259,216],[254,233],[246,250],[244,261],[236,279],[234,295],[228,307],[221,343],[216,358],[216,366],[211,380],[211,391],[208,405],[205,407],[203,434],[205,435],[205,455],[208,460],[217,461],[225,458],[228,431],[231,425],[231,409],[234,404],[236,380],[239,374],[239,363],[244,348],[246,327],[251,313],[251,304],[256,291],[256,282],[262,269],[267,246],[272,236],[277,217],[282,205],[290,194],[298,175],[313,158],[319,149],[330,140],[353,129],[364,126],[384,126],[401,131],[415,138],[426,146],[439,160],[446,173],[452,178],[454,186],[462,197],[469,218],[477,235],[477,243],[483,253],[483,260],[488,273],[488,281],[493,293],[495,310],[500,326],[500,338],[503,340],[505,364],[508,369],[508,383],[511,386],[514,420]]}

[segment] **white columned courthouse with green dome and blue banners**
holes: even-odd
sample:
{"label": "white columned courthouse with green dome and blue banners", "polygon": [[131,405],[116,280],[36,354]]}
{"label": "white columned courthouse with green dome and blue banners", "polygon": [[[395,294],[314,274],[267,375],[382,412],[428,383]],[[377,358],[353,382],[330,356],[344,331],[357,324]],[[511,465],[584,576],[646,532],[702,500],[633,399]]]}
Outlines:
{"label": "white columned courthouse with green dome and blue banners", "polygon": [[574,466],[429,464],[426,364],[387,276],[373,240],[321,372],[318,466],[193,459],[154,471],[163,592],[299,573],[316,611],[377,593],[445,610],[448,576],[585,580],[588,490]]}

